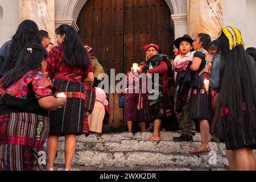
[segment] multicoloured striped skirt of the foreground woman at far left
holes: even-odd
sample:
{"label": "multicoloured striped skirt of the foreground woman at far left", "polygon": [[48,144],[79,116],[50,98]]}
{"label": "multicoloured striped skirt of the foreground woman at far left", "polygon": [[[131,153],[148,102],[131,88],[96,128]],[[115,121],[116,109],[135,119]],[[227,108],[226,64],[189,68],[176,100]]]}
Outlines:
{"label": "multicoloured striped skirt of the foreground woman at far left", "polygon": [[32,113],[0,115],[0,171],[40,171],[48,138],[49,118]]}

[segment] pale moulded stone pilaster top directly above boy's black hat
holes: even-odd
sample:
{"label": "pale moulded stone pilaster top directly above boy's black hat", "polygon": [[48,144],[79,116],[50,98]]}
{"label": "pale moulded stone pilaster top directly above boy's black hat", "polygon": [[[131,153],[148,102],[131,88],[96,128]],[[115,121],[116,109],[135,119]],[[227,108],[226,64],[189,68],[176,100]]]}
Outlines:
{"label": "pale moulded stone pilaster top directly above boy's black hat", "polygon": [[184,34],[188,34],[188,16],[187,13],[171,15],[174,20],[175,39],[180,38]]}

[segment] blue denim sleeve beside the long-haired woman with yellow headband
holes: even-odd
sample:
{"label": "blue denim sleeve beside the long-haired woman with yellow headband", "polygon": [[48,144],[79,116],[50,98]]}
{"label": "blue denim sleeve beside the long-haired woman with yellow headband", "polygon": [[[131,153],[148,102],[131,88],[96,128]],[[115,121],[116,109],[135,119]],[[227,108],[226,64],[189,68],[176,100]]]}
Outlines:
{"label": "blue denim sleeve beside the long-haired woman with yellow headband", "polygon": [[221,65],[222,65],[222,56],[220,53],[217,53],[213,58],[212,71],[210,73],[210,88],[213,90],[220,89]]}

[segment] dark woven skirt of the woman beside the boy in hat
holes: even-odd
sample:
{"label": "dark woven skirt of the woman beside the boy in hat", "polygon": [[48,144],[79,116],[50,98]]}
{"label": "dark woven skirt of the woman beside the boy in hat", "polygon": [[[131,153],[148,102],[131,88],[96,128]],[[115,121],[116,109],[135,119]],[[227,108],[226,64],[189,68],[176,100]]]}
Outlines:
{"label": "dark woven skirt of the woman beside the boy in hat", "polygon": [[207,92],[204,88],[204,79],[209,80],[209,76],[200,76],[200,88],[192,89],[191,94],[191,119],[199,121],[206,119],[209,121],[211,107],[210,92]]}

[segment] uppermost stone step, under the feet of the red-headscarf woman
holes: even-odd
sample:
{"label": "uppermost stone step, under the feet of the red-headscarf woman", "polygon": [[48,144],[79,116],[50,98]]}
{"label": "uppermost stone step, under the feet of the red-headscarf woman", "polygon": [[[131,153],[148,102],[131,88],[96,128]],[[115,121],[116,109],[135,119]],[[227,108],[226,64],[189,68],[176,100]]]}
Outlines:
{"label": "uppermost stone step, under the feet of the red-headscarf woman", "polygon": [[[174,131],[160,131],[160,136],[162,140],[172,141],[174,137],[179,137],[179,132]],[[81,135],[77,137],[78,142],[121,142],[121,140],[132,139],[132,140],[146,140],[152,136],[152,132],[139,132],[139,133],[112,133],[112,134],[90,134],[88,137]],[[64,137],[60,137],[60,141],[63,141]],[[200,133],[196,133],[193,136],[194,141],[201,141]]]}

